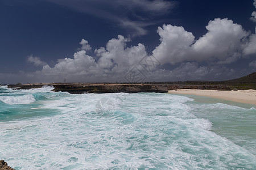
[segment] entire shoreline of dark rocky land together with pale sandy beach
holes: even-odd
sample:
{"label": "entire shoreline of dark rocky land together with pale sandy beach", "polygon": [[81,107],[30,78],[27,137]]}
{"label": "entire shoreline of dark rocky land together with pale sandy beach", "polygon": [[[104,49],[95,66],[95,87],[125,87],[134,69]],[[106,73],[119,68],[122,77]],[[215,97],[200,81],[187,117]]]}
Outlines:
{"label": "entire shoreline of dark rocky land together with pale sandy beach", "polygon": [[[201,85],[175,85],[175,84],[86,84],[86,83],[34,83],[34,84],[9,84],[8,88],[31,89],[53,86],[52,91],[66,91],[70,94],[106,94],[116,92],[160,92],[168,94],[183,94],[207,96],[217,99],[235,101],[256,105],[256,90],[228,91],[227,86],[201,86]],[[210,89],[212,88],[212,89]],[[213,90],[214,88],[214,90]]]}

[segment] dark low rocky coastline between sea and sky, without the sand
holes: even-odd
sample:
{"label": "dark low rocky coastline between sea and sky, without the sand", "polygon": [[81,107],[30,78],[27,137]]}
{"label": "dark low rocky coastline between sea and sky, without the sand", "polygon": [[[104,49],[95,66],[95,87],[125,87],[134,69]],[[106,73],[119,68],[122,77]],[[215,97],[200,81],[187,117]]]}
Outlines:
{"label": "dark low rocky coastline between sea and sky, without the sand", "polygon": [[31,89],[53,86],[52,91],[69,92],[70,94],[105,94],[105,93],[138,93],[158,92],[167,93],[168,90],[198,89],[198,90],[232,90],[230,86],[213,85],[188,85],[188,84],[110,84],[110,83],[33,83],[33,84],[8,84],[8,88]]}

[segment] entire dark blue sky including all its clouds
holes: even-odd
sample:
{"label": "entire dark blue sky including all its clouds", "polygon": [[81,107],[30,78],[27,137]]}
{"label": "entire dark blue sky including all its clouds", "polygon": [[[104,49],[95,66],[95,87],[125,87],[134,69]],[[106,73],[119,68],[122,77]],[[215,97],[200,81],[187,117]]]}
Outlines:
{"label": "entire dark blue sky including all its clouds", "polygon": [[0,83],[239,78],[255,1],[0,0]]}

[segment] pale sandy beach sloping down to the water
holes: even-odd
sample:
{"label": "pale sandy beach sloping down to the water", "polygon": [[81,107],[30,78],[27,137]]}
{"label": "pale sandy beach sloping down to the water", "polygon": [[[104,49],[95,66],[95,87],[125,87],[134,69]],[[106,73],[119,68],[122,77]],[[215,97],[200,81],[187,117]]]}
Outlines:
{"label": "pale sandy beach sloping down to the water", "polygon": [[170,90],[169,94],[197,95],[214,97],[218,99],[231,100],[240,103],[256,105],[256,90],[219,91],[219,90]]}

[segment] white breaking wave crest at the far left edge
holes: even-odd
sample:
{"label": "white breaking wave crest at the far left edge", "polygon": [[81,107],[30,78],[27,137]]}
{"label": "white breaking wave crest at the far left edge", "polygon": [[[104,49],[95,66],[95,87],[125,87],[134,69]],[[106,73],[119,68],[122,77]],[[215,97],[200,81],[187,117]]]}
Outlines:
{"label": "white breaking wave crest at the far left edge", "polygon": [[35,101],[35,97],[32,95],[0,96],[0,100],[6,104],[30,104]]}

